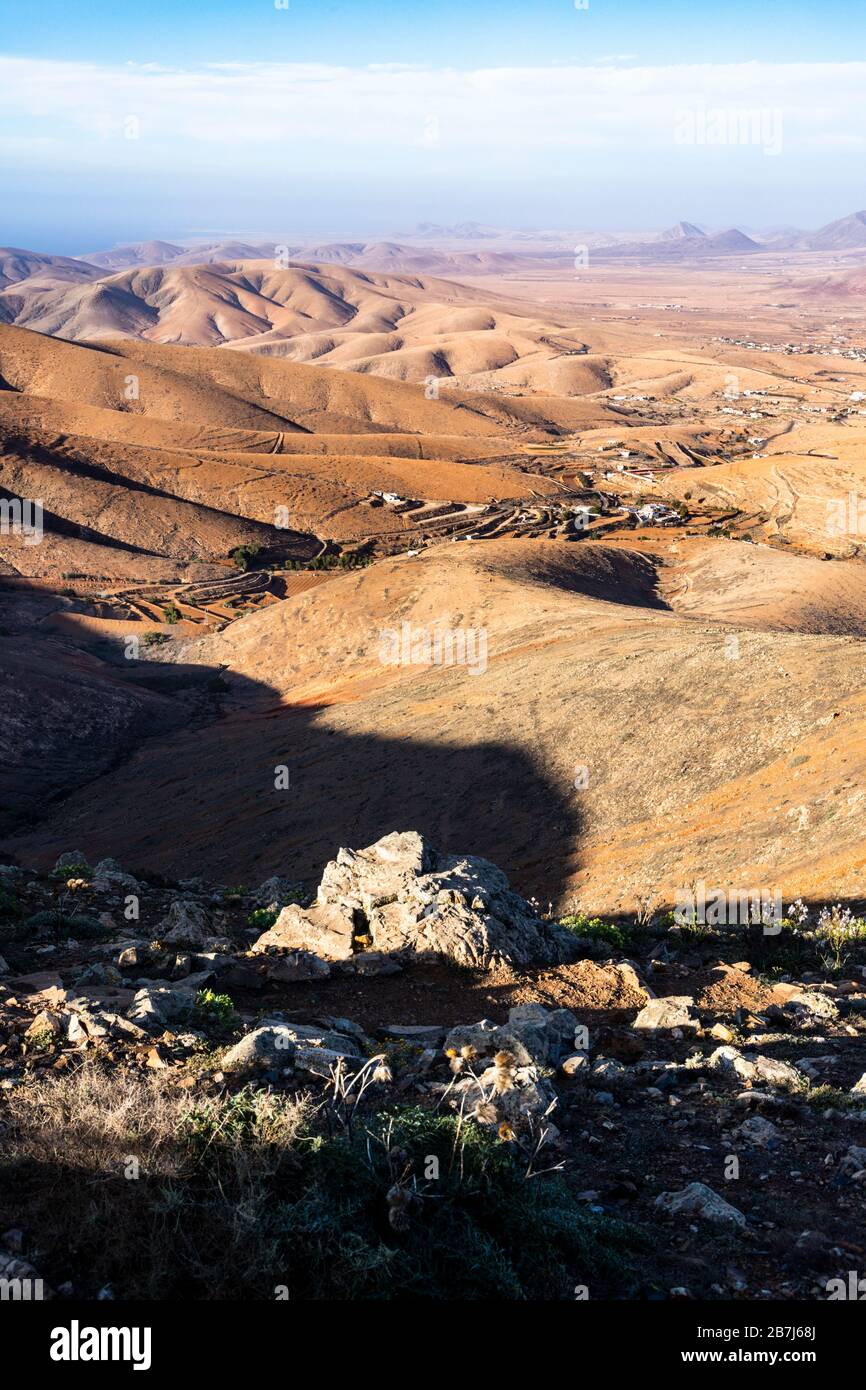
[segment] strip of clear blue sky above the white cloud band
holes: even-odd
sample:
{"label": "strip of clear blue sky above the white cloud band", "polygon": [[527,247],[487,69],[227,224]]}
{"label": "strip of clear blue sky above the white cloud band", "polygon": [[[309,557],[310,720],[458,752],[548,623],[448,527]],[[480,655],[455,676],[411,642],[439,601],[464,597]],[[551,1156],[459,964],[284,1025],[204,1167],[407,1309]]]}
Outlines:
{"label": "strip of clear blue sky above the white cloud band", "polygon": [[582,64],[844,60],[862,0],[40,0],[3,3],[7,53],[100,61]]}

